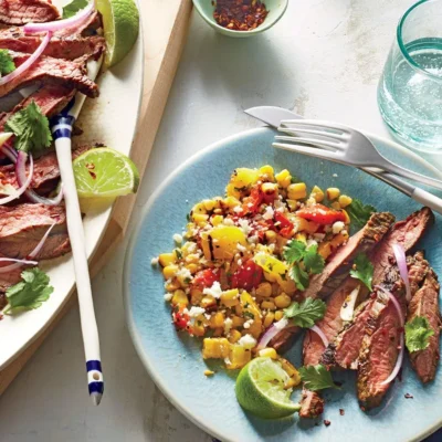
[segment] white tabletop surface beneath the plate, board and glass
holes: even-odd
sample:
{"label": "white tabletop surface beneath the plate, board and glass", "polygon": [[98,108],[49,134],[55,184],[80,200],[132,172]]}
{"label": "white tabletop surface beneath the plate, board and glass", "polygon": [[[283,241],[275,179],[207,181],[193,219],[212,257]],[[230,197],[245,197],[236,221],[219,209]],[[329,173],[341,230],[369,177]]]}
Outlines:
{"label": "white tabletop surface beneath the plate, board and glass", "polygon": [[[259,126],[243,114],[248,107],[277,105],[388,136],[376,88],[396,23],[412,2],[290,3],[275,28],[246,40],[215,34],[193,12],[133,223],[158,183],[190,155]],[[134,350],[120,288],[126,245],[127,239],[93,283],[106,380],[102,404],[94,408],[87,397],[74,308],[1,397],[1,442],[211,440],[169,404]]]}

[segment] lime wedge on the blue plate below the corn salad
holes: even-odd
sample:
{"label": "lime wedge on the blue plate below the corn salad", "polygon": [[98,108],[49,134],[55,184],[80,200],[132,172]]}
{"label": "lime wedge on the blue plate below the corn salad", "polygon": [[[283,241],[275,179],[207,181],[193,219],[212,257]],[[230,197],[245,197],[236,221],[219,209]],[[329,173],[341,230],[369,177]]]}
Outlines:
{"label": "lime wedge on the blue plate below the corn salad", "polygon": [[281,365],[266,357],[252,359],[236,379],[235,392],[241,407],[263,419],[281,419],[299,411],[284,386],[290,377]]}

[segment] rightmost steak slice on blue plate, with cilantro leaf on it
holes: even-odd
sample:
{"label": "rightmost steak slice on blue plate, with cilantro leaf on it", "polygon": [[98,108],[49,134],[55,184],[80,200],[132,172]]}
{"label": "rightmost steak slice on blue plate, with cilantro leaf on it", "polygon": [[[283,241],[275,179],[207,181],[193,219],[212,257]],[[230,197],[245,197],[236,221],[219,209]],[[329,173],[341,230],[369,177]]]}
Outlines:
{"label": "rightmost steak slice on blue plate, with cilantro leaf on it", "polygon": [[441,328],[441,316],[439,311],[438,276],[433,270],[429,270],[422,287],[414,294],[408,306],[407,322],[413,320],[417,316],[428,319],[434,335],[430,337],[430,344],[424,350],[413,351],[410,355],[411,366],[422,382],[430,382],[434,379],[438,368],[439,340]]}

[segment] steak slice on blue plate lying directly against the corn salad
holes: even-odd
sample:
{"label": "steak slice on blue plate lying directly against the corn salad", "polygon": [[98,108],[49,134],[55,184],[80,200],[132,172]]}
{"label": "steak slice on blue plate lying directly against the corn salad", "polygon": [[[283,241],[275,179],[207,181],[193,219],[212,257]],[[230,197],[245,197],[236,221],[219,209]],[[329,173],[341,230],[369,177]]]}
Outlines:
{"label": "steak slice on blue plate lying directly against the corn salad", "polygon": [[393,222],[394,217],[391,213],[373,213],[366,227],[352,235],[347,244],[338,250],[324,271],[312,277],[309,286],[303,293],[303,296],[305,298],[325,298],[330,295],[347,277],[356,255],[371,252]]}

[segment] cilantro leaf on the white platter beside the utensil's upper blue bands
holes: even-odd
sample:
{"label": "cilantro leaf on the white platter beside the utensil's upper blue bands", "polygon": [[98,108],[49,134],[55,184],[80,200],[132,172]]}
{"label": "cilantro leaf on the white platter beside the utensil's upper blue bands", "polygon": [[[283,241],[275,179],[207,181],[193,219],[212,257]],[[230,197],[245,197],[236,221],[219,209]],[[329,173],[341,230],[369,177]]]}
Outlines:
{"label": "cilantro leaf on the white platter beside the utensil's upper blue bands", "polygon": [[17,150],[35,152],[49,147],[52,141],[49,120],[34,101],[13,114],[4,128],[15,134]]}

